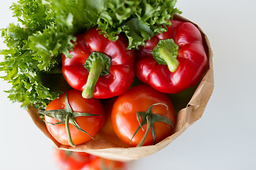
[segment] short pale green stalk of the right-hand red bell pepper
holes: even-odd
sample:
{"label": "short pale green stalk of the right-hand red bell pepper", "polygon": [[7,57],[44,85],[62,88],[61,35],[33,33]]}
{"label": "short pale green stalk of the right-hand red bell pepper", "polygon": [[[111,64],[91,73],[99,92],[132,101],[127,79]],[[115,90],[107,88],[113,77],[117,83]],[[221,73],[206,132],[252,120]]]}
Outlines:
{"label": "short pale green stalk of the right-hand red bell pepper", "polygon": [[176,69],[178,68],[178,60],[174,57],[173,52],[171,50],[169,50],[169,47],[162,47],[159,50],[159,53],[162,57],[162,59],[164,59],[164,61],[167,64],[168,69],[170,70],[170,72],[175,72]]}

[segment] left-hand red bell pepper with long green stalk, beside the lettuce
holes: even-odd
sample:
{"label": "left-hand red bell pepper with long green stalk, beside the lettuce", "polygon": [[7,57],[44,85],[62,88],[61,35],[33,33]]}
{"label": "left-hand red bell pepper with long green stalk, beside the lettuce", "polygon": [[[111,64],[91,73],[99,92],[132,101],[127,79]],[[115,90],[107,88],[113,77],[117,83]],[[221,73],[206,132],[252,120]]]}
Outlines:
{"label": "left-hand red bell pepper with long green stalk, beside the lettuce", "polygon": [[96,28],[77,35],[77,44],[63,55],[63,76],[84,98],[111,98],[129,89],[134,79],[134,51],[122,35],[115,42]]}

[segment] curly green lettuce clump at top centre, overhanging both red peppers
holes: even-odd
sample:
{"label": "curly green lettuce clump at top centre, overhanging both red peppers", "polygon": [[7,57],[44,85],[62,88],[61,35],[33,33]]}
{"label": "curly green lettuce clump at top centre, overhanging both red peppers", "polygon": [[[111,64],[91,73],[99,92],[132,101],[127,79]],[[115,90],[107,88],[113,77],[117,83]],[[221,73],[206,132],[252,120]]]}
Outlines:
{"label": "curly green lettuce clump at top centre, overhanging both red peppers", "polygon": [[166,26],[171,24],[169,19],[174,13],[180,13],[174,8],[176,0],[90,0],[90,4],[97,8],[98,13],[100,11],[97,26],[101,33],[110,40],[117,40],[118,35],[124,32],[129,40],[128,49],[145,45],[153,35],[166,31]]}

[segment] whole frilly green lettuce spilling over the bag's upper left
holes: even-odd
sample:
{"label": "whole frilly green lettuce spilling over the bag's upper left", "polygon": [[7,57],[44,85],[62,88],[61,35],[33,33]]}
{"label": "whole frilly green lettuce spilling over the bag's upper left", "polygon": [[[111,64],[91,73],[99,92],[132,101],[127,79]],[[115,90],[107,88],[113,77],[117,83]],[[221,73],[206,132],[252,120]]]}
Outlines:
{"label": "whole frilly green lettuce spilling over the bag's upper left", "polygon": [[[18,24],[2,29],[7,49],[0,71],[12,84],[11,101],[45,109],[63,90],[57,88],[61,55],[71,57],[75,35],[97,27],[110,40],[124,33],[128,48],[145,45],[171,22],[176,0],[19,0],[11,6]],[[50,79],[49,79],[50,77]]]}

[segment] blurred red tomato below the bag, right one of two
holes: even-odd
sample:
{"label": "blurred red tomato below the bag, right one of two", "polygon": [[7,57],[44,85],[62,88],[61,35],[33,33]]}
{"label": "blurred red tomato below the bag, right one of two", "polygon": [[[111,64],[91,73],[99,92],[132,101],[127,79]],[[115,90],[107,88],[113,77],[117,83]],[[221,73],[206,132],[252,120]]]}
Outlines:
{"label": "blurred red tomato below the bag, right one of two", "polygon": [[110,159],[95,157],[89,164],[89,170],[124,170],[124,162],[117,162]]}

